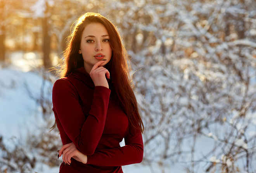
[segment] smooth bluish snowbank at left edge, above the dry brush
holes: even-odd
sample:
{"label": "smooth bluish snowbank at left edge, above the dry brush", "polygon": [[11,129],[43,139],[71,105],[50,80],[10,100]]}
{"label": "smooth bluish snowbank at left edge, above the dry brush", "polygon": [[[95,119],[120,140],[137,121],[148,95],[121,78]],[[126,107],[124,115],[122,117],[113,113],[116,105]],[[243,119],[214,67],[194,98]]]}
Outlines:
{"label": "smooth bluish snowbank at left edge, above the dry brush", "polygon": [[12,136],[24,139],[28,132],[36,132],[44,122],[37,103],[28,97],[25,89],[29,85],[31,92],[37,93],[42,78],[35,73],[14,69],[0,69],[0,74],[0,131],[10,144],[8,146],[12,146]]}

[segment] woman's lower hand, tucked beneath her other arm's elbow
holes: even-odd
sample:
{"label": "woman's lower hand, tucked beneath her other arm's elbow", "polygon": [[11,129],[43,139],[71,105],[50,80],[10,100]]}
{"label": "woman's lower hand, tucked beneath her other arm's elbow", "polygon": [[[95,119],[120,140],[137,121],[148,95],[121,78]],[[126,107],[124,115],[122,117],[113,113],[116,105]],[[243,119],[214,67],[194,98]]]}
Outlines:
{"label": "woman's lower hand, tucked beneath her other arm's elbow", "polygon": [[66,144],[61,147],[59,150],[59,156],[62,155],[62,160],[64,161],[65,164],[71,163],[71,158],[76,159],[77,161],[80,161],[84,164],[87,163],[87,155],[81,153],[76,146],[74,145],[73,142]]}

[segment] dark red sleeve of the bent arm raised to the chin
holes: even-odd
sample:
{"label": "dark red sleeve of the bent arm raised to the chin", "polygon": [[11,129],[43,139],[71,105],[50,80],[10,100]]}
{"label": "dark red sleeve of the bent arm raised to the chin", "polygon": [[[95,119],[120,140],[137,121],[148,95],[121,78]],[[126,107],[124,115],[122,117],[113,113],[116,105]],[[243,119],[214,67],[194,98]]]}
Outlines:
{"label": "dark red sleeve of the bent arm raised to the chin", "polygon": [[59,79],[54,84],[52,102],[56,121],[59,120],[66,133],[64,135],[86,155],[94,153],[102,136],[110,92],[104,86],[95,86],[93,99],[88,96],[88,100],[92,99],[92,106],[87,116],[81,108],[76,88],[69,80]]}

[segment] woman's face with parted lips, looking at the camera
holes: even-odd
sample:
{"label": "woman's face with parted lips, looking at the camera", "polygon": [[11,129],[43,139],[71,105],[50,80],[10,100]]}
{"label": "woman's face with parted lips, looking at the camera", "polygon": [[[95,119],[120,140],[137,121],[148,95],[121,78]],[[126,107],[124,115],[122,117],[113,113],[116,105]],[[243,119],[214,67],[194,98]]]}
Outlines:
{"label": "woman's face with parted lips, looking at the camera", "polygon": [[91,23],[83,30],[79,54],[82,54],[84,67],[90,73],[92,67],[98,61],[107,59],[101,66],[106,65],[112,55],[109,44],[109,33],[101,23]]}

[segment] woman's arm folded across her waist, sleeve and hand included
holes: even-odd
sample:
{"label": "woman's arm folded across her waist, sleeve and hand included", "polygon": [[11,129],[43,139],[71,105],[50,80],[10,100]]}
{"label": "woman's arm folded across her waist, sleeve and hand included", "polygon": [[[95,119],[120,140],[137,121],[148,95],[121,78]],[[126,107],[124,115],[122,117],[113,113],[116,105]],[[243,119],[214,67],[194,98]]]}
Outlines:
{"label": "woman's arm folded across her waist, sleeve and hand included", "polygon": [[59,155],[62,154],[63,161],[68,164],[71,158],[95,166],[123,166],[140,163],[143,159],[142,134],[139,131],[135,135],[129,133],[125,137],[125,143],[126,146],[120,148],[96,150],[91,156],[81,153],[73,143],[70,143],[62,146]]}

